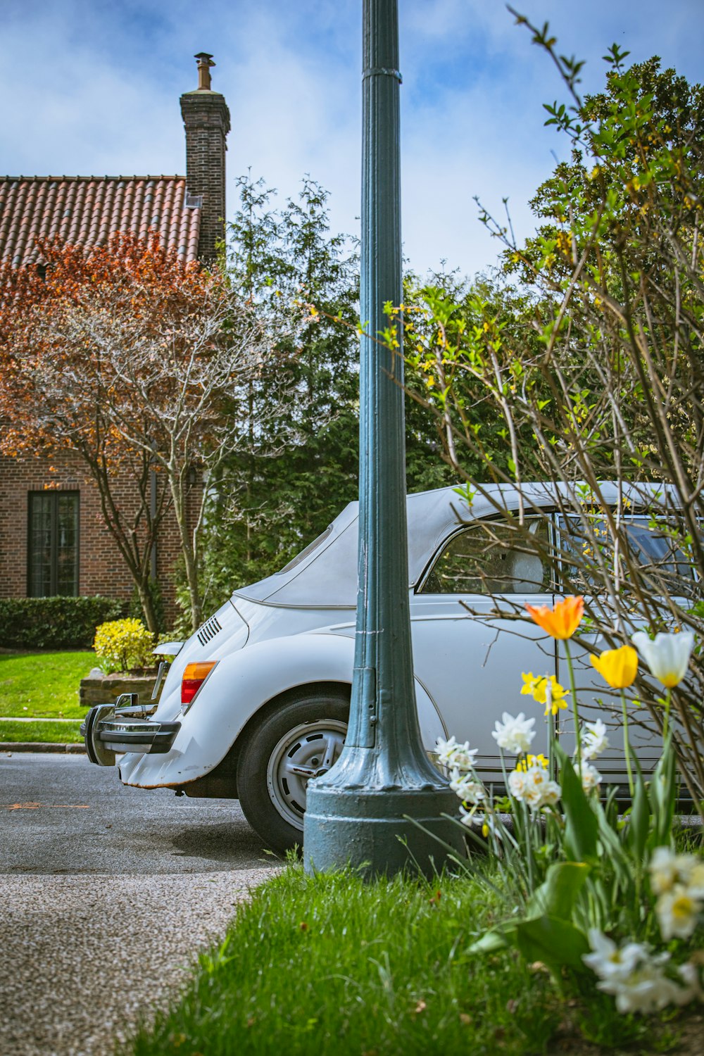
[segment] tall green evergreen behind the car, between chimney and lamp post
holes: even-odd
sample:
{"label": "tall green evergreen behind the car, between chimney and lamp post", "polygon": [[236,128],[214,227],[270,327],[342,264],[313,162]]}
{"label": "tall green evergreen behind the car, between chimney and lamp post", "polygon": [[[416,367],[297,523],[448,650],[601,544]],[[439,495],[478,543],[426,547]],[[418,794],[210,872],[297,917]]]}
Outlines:
{"label": "tall green evergreen behind the car, between chimney and lamp post", "polygon": [[[250,385],[248,441],[210,482],[210,608],[283,567],[358,489],[357,246],[330,233],[327,192],[309,176],[281,209],[262,180],[242,176],[239,189],[223,247],[230,282],[291,336],[281,342],[281,360]],[[277,416],[266,413],[272,385]],[[454,483],[434,416],[412,400],[406,410],[408,490]]]}

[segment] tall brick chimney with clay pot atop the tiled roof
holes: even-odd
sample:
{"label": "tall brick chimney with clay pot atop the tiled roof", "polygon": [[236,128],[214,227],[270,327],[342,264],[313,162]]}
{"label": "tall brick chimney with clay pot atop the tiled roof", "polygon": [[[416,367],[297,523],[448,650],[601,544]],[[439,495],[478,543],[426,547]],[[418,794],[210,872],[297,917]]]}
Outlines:
{"label": "tall brick chimney with clay pot atop the tiled roof", "polygon": [[[202,199],[198,259],[204,264],[215,258],[215,243],[225,234],[225,151],[230,131],[230,111],[225,96],[210,87],[212,55],[198,52],[198,87],[180,97],[186,127],[187,203]],[[195,199],[195,201],[194,201]]]}

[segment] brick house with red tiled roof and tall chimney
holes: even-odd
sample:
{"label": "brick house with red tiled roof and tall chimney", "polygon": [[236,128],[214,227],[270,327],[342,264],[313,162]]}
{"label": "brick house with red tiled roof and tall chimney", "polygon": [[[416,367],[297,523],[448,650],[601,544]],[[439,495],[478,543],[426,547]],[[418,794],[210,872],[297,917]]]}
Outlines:
{"label": "brick house with red tiled roof and tall chimney", "polygon": [[[186,175],[0,177],[0,259],[41,267],[36,240],[58,237],[85,249],[117,231],[161,244],[184,261],[208,264],[224,234],[225,151],[230,113],[212,91],[212,56],[195,56],[198,87],[180,97]],[[116,482],[119,493],[119,480]],[[120,494],[129,509],[130,494]],[[174,612],[175,523],[152,553],[167,622]],[[133,584],[104,526],[95,485],[80,459],[0,456],[0,598],[104,595],[129,599]]]}

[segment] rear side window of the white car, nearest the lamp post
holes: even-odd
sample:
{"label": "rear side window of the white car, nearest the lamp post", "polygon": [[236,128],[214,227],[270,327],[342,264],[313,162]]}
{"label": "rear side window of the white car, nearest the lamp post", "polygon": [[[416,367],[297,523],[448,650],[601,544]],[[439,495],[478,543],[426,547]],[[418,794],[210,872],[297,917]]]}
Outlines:
{"label": "rear side window of the white car, nearest the lamp post", "polygon": [[527,528],[528,539],[510,525],[477,522],[453,535],[419,592],[528,595],[550,590],[550,573],[540,557],[548,550],[547,518],[531,520]]}

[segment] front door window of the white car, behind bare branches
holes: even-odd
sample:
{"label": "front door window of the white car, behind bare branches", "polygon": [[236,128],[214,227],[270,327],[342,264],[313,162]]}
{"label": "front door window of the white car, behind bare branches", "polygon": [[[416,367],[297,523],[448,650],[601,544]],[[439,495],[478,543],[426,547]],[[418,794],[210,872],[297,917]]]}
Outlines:
{"label": "front door window of the white car, behind bare branches", "polygon": [[[591,577],[583,569],[578,572],[570,567],[569,557],[583,555],[589,561],[594,557],[594,547],[602,550],[608,562],[613,562],[613,543],[606,521],[598,515],[590,517],[591,538],[576,517],[559,516],[556,521],[557,546],[565,554],[563,569],[566,579],[572,587],[588,589],[593,585]],[[678,546],[676,540],[655,530],[650,518],[645,514],[633,514],[624,522],[624,535],[631,560],[653,579],[662,582],[664,589],[671,592],[681,590],[682,584],[691,582],[693,587],[693,571],[689,562]],[[579,561],[582,564],[582,560]],[[688,592],[688,591],[687,591]]]}

